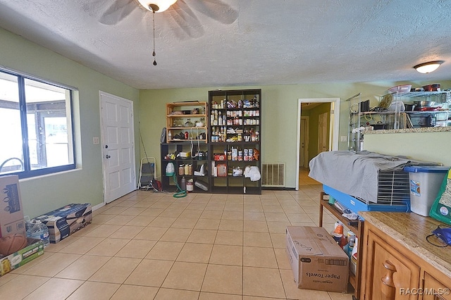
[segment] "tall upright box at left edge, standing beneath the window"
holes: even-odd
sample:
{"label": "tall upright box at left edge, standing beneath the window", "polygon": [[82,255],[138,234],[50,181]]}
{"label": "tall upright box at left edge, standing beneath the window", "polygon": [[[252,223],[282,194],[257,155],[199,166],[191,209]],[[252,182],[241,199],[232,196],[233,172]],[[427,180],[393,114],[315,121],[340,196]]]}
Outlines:
{"label": "tall upright box at left edge, standing beneath the window", "polygon": [[25,235],[18,175],[0,177],[0,237]]}

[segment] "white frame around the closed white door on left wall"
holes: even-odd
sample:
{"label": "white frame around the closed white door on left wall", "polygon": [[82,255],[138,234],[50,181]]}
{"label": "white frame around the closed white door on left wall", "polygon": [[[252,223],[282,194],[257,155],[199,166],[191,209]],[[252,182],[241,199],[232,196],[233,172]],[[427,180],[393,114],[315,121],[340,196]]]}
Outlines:
{"label": "white frame around the closed white door on left wall", "polygon": [[[130,130],[132,131],[131,132],[131,136],[133,137],[133,140],[135,140],[135,112],[133,111],[133,101],[131,101],[131,100],[129,100],[129,99],[125,99],[125,98],[122,98],[122,97],[120,97],[120,96],[116,96],[116,95],[113,95],[113,94],[109,94],[109,93],[107,93],[107,92],[102,92],[102,91],[99,91],[99,113],[100,113],[100,144],[101,144],[101,169],[102,169],[102,175],[103,175],[103,180],[102,180],[102,182],[103,182],[103,189],[104,189],[104,204],[108,204],[108,203],[110,203],[110,202],[107,202],[107,199],[106,199],[106,176],[105,176],[105,172],[106,172],[106,168],[105,168],[105,164],[106,164],[106,162],[105,162],[105,160],[104,160],[104,157],[105,157],[105,155],[106,155],[106,151],[105,151],[105,144],[104,144],[104,136],[105,136],[105,132],[104,132],[104,120],[103,120],[103,118],[102,118],[102,112],[101,112],[101,108],[102,108],[102,96],[109,96],[109,97],[111,97],[111,98],[114,98],[114,99],[116,99],[116,100],[118,100],[118,101],[123,101],[123,102],[125,102],[125,103],[127,103],[127,104],[130,104],[130,106],[131,106],[131,109],[132,109],[132,122],[130,123],[131,124],[131,128],[130,128]],[[135,149],[135,142],[133,142],[133,149],[132,149],[132,158],[131,158],[131,161],[133,162],[132,163],[132,166],[133,166],[133,170],[132,170],[132,174],[133,174],[133,177],[134,177],[134,179],[135,179],[135,182],[133,182],[133,185],[134,185],[134,187],[136,187],[137,186],[137,182],[136,182],[136,149]],[[112,201],[114,201],[114,200],[112,200]],[[112,202],[111,201],[111,202]]]}

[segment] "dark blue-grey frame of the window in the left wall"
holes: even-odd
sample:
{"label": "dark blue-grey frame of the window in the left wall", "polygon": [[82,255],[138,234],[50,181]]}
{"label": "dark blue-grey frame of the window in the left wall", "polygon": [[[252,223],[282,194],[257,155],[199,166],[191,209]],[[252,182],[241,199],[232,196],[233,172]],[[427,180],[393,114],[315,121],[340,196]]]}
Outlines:
{"label": "dark blue-grey frame of the window in the left wall", "polygon": [[[58,82],[53,82],[50,80],[44,80],[42,78],[36,77],[34,75],[29,75],[26,73],[22,73],[20,71],[16,71],[16,70],[11,70],[8,68],[2,68],[0,66],[0,73],[5,73],[7,75],[12,75],[17,77],[17,85],[18,85],[18,99],[19,99],[19,110],[20,110],[20,126],[21,126],[21,132],[22,132],[22,151],[23,151],[23,169],[24,170],[19,170],[17,172],[11,172],[11,173],[4,173],[1,174],[0,176],[4,176],[4,175],[18,175],[18,177],[20,179],[22,178],[30,178],[30,177],[37,177],[37,176],[42,176],[42,175],[49,175],[49,174],[53,174],[53,173],[59,173],[59,172],[63,172],[63,171],[67,171],[67,170],[74,170],[76,168],[76,155],[75,155],[75,128],[74,128],[74,116],[73,116],[73,112],[74,112],[74,94],[75,92],[78,92],[78,89],[75,87],[71,87],[68,85],[63,85],[61,83]],[[33,80],[36,82],[40,82],[42,84],[45,85],[51,85],[54,87],[59,87],[61,89],[66,89],[69,92],[69,104],[68,104],[68,108],[66,108],[66,118],[70,118],[70,133],[71,133],[71,149],[69,149],[69,151],[71,151],[70,156],[72,156],[72,163],[68,163],[65,165],[56,165],[53,167],[46,167],[46,168],[37,168],[37,169],[32,169],[32,165],[30,162],[30,146],[29,146],[29,140],[28,140],[28,128],[27,128],[27,102],[26,102],[26,95],[25,95],[25,80]],[[70,109],[70,113],[67,112],[67,109]],[[70,142],[68,140],[68,142]],[[8,158],[6,161],[10,160],[10,159],[16,159],[16,158]],[[0,163],[5,163],[4,162],[0,162]]]}

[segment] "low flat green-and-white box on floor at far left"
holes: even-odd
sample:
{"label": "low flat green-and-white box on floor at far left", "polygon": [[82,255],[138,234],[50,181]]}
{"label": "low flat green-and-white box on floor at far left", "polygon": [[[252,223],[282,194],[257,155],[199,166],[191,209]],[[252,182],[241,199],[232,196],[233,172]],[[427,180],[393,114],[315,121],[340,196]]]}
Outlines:
{"label": "low flat green-and-white box on floor at far left", "polygon": [[44,254],[44,243],[42,240],[27,237],[27,242],[28,246],[25,248],[0,258],[0,277]]}

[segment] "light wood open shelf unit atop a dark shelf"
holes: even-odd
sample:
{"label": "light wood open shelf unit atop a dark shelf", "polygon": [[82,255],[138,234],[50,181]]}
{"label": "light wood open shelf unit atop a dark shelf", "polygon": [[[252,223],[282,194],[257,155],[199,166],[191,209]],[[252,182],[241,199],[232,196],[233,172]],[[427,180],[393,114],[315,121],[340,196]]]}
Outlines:
{"label": "light wood open shelf unit atop a dark shelf", "polygon": [[166,142],[207,142],[206,102],[166,104]]}

